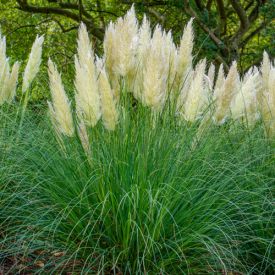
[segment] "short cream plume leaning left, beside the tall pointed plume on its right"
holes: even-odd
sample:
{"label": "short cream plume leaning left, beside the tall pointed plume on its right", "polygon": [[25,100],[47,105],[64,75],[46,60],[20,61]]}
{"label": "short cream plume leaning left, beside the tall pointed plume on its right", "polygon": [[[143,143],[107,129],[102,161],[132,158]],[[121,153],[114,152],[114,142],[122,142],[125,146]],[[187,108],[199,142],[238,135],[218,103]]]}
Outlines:
{"label": "short cream plume leaning left, beside the tall pointed plume on its right", "polygon": [[51,120],[57,133],[71,137],[74,135],[74,124],[70,101],[64,90],[61,76],[50,59],[48,62],[48,74],[52,95],[52,102],[48,102]]}

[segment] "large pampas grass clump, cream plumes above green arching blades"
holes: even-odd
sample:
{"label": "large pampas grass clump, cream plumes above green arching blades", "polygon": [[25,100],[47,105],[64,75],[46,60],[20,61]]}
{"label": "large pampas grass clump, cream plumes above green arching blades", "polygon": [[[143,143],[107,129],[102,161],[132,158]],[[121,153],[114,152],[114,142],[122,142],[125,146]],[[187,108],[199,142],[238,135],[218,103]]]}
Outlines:
{"label": "large pampas grass clump, cream plumes above green arching blades", "polygon": [[176,46],[132,7],[95,57],[81,24],[75,104],[49,61],[51,123],[27,113],[5,161],[18,194],[5,189],[5,261],[42,273],[274,270],[274,65],[264,54],[260,69],[240,77],[233,63],[215,80],[206,60],[193,64],[193,39],[192,20]]}

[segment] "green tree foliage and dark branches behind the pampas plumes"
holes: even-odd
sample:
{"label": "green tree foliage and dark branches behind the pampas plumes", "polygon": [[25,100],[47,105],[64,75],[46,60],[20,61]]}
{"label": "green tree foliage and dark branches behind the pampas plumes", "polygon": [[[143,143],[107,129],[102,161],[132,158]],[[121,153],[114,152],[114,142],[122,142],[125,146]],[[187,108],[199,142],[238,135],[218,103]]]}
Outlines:
{"label": "green tree foliage and dark branches behind the pampas plumes", "polygon": [[176,42],[194,17],[195,54],[225,68],[238,60],[244,72],[260,63],[263,50],[275,55],[275,0],[2,0],[0,24],[13,54],[23,57],[35,34],[45,33],[47,56],[57,56],[59,65],[70,68],[79,22],[87,25],[100,51],[108,22],[132,4],[139,17],[146,13],[154,25],[172,29]]}

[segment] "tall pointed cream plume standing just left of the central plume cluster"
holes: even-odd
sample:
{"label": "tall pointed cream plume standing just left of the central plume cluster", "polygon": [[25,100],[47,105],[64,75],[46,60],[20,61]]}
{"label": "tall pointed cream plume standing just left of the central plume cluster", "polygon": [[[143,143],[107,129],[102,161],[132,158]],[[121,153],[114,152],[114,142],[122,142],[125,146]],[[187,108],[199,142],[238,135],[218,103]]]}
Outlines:
{"label": "tall pointed cream plume standing just left of the central plume cluster", "polygon": [[75,72],[77,115],[83,119],[88,126],[95,126],[101,116],[100,96],[96,80],[94,53],[86,26],[83,23],[81,23],[78,31]]}

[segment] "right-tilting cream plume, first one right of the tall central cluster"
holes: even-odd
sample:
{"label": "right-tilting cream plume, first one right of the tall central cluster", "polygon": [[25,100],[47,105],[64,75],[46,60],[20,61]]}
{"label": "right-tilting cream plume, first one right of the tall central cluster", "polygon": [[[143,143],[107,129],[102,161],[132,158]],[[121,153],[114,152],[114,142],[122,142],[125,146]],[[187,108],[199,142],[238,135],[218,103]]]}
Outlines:
{"label": "right-tilting cream plume, first one right of the tall central cluster", "polygon": [[206,59],[203,59],[195,68],[194,77],[184,105],[184,118],[187,121],[196,121],[200,118],[207,104],[208,98],[204,87],[205,67]]}

